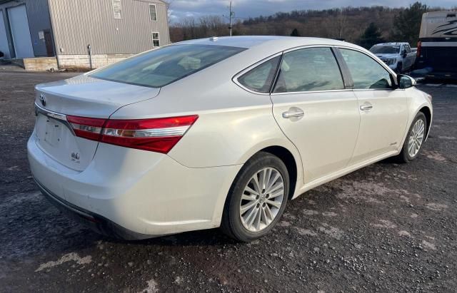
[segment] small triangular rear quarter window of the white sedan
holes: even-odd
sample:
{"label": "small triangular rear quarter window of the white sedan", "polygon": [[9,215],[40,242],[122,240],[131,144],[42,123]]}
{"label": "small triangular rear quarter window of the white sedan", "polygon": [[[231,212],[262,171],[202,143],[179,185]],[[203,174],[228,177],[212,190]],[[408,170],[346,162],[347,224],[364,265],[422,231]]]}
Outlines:
{"label": "small triangular rear quarter window of the white sedan", "polygon": [[238,82],[251,91],[268,93],[280,59],[281,57],[277,56],[261,63],[261,65],[240,76]]}

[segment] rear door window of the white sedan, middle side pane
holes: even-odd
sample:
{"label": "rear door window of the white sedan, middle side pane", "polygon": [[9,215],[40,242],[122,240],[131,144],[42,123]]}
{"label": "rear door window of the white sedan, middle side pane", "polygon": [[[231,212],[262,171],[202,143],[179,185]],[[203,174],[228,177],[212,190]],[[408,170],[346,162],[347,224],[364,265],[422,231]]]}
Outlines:
{"label": "rear door window of the white sedan, middle side pane", "polygon": [[331,48],[303,48],[285,53],[274,93],[330,91],[344,88]]}

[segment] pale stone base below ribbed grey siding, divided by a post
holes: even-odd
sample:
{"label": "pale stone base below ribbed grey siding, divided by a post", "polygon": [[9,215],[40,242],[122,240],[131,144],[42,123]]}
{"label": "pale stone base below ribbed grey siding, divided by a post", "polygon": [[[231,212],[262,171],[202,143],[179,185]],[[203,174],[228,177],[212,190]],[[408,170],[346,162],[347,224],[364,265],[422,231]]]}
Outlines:
{"label": "pale stone base below ribbed grey siding, divided by a post", "polygon": [[[92,55],[92,68],[100,68],[121,61],[133,54],[96,54]],[[90,68],[89,55],[58,55],[60,68]]]}

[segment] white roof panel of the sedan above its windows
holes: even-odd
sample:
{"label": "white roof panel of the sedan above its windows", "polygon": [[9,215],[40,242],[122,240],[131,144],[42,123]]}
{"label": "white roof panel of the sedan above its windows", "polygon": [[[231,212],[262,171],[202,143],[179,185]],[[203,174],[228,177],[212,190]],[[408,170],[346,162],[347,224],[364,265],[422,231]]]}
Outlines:
{"label": "white roof panel of the sedan above its windows", "polygon": [[[253,48],[265,45],[277,47],[279,50],[308,45],[351,46],[351,43],[336,41],[330,38],[308,38],[293,36],[221,36],[212,38],[199,38],[196,40],[182,41],[176,44],[188,45],[214,45],[231,46],[239,48]],[[352,45],[354,46],[354,45]]]}

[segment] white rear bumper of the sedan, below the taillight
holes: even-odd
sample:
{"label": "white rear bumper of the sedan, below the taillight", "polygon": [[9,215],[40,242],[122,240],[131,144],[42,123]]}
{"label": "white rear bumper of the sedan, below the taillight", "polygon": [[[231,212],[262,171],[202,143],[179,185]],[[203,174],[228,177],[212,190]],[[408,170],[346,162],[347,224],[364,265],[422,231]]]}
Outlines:
{"label": "white rear bumper of the sedan, below the taillight", "polygon": [[34,134],[27,149],[46,197],[97,232],[127,240],[219,227],[241,168],[187,168],[168,155],[100,143],[87,168],[75,171],[44,153]]}

